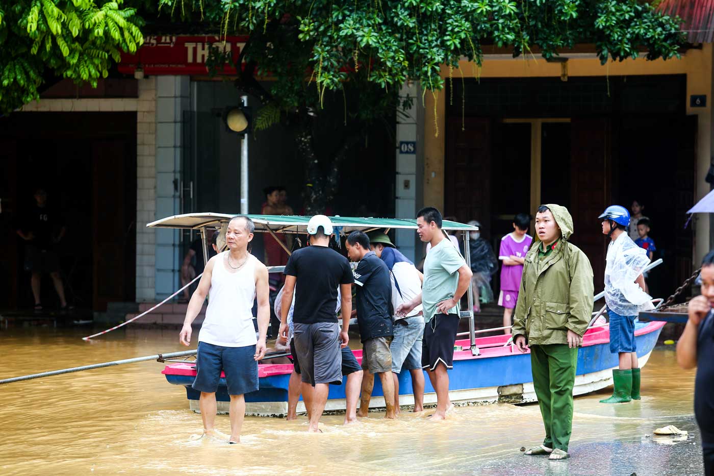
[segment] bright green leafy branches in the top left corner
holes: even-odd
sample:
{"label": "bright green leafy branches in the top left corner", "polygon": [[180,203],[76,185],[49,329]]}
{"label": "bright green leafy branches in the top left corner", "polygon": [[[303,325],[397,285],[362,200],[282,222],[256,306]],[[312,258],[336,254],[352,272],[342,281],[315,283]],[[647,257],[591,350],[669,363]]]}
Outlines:
{"label": "bright green leafy branches in the top left corner", "polygon": [[39,97],[43,83],[106,77],[121,50],[141,46],[143,21],[121,0],[0,2],[0,114]]}

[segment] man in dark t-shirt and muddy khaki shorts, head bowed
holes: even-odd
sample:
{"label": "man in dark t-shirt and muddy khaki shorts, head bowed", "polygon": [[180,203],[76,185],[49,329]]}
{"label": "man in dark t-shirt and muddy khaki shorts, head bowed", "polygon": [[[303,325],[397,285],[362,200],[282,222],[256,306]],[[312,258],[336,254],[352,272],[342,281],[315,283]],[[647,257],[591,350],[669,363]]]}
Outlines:
{"label": "man in dark t-shirt and muddy khaki shorts, head bowed", "polygon": [[392,378],[392,283],[387,265],[369,248],[363,232],[347,237],[347,254],[358,262],[353,276],[357,284],[357,322],[362,340],[362,396],[358,417],[366,417],[374,387],[374,375],[382,382],[386,418],[395,418]]}

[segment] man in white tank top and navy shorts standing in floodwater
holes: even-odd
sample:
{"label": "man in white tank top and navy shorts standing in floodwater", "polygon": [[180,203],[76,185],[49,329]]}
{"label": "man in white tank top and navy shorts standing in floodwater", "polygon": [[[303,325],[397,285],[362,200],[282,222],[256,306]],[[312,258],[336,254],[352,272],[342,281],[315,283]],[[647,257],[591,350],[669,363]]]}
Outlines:
{"label": "man in white tank top and navy shorts standing in floodwater", "polygon": [[[270,319],[268,269],[248,253],[253,239],[253,221],[233,217],[226,231],[228,251],[208,260],[198,289],[191,296],[186,319],[178,339],[191,344],[191,323],[201,312],[206,294],[211,300],[206,319],[198,334],[196,380],[193,389],[201,392],[199,406],[203,435],[220,436],[213,428],[216,420],[216,390],[221,371],[226,373],[231,397],[231,437],[229,443],[241,441],[241,426],[246,415],[243,395],[258,390],[258,360],[266,352],[266,332]],[[253,328],[253,302],[258,299],[258,333]]]}

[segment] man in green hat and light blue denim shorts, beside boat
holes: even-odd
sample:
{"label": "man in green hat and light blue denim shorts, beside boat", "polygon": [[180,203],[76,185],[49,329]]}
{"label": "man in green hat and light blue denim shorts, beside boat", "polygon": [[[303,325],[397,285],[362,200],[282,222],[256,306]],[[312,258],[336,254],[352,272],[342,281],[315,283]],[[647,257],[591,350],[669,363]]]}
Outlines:
{"label": "man in green hat and light blue denim shorts, beside boat", "polygon": [[[369,234],[372,251],[389,269],[392,284],[392,309],[411,301],[421,293],[423,274],[414,267],[381,232]],[[396,312],[395,312],[396,314]],[[414,412],[421,412],[424,403],[424,372],[421,370],[421,344],[424,334],[422,305],[411,310],[405,317],[393,316],[394,327],[389,348],[392,352],[392,375],[394,377],[394,408],[399,412],[399,375],[402,370],[411,374],[414,395]]]}

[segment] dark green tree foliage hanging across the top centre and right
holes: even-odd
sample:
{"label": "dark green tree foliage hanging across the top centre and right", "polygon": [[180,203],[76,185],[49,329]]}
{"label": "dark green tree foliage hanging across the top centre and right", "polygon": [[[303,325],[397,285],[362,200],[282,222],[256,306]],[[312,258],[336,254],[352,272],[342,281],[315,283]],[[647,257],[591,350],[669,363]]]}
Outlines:
{"label": "dark green tree foliage hanging across the top centre and right", "polygon": [[[678,56],[680,21],[640,0],[160,0],[176,11],[200,9],[221,32],[250,34],[245,59],[276,79],[273,99],[304,104],[350,81],[398,89],[407,80],[443,89],[441,65],[468,58],[481,66],[483,45],[513,56],[538,47],[546,59],[594,43],[600,61]],[[644,53],[642,52],[644,50]],[[315,87],[316,86],[316,87]]]}

